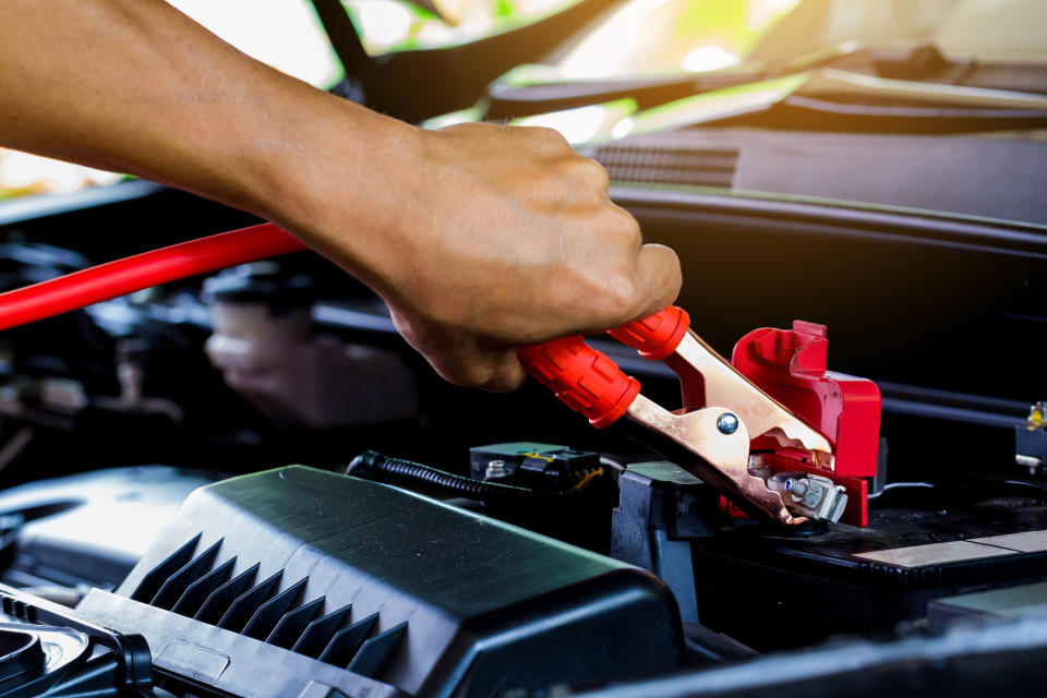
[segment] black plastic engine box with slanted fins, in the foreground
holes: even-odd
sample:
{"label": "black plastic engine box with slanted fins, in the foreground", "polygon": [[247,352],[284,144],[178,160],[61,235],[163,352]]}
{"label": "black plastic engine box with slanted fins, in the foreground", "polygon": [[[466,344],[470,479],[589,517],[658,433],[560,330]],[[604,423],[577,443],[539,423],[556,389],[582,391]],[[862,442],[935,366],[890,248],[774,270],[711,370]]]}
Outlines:
{"label": "black plastic engine box with slanted fins, in the foreground", "polygon": [[117,593],[92,591],[77,611],[143,634],[157,669],[236,696],[314,681],[486,698],[682,655],[675,603],[646,571],[302,467],[201,488]]}

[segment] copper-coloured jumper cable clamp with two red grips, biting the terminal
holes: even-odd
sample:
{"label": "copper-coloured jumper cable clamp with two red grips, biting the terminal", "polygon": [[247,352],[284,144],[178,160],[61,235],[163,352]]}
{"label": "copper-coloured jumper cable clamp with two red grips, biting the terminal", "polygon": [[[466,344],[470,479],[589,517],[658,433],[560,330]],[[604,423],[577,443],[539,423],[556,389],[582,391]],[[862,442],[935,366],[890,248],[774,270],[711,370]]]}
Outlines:
{"label": "copper-coloured jumper cable clamp with two red grips, biting the terminal", "polygon": [[[675,411],[641,395],[636,378],[580,335],[524,347],[519,356],[532,376],[593,426],[627,418],[649,448],[726,492],[748,514],[783,525],[840,519],[849,497],[835,482],[830,440],[688,326],[687,313],[670,306],[610,333],[679,376],[683,407]],[[769,373],[777,380],[775,371]]]}

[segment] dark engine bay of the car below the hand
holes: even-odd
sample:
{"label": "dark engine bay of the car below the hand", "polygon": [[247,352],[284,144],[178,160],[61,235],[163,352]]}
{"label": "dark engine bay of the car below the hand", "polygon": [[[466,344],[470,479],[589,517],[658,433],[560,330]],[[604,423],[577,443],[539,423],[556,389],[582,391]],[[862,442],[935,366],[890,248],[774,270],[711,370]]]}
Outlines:
{"label": "dark engine bay of the car below the hand", "polygon": [[[1043,344],[1036,250],[615,195],[681,252],[702,337],[831,435],[820,485],[795,460],[763,476],[820,493],[783,495],[810,520],[753,518],[537,383],[443,383],[365,288],[296,253],[4,333],[0,695],[974,695],[1001,667],[1036,685],[1047,428],[1018,396],[1042,374],[991,359]],[[81,232],[136,210],[149,246],[252,222],[156,189],[41,210],[4,224],[7,288],[140,251]],[[739,275],[698,238],[762,254]],[[811,250],[825,274],[786,272]],[[1024,282],[937,282],[974,266]],[[590,344],[679,405],[665,363]],[[971,370],[978,352],[996,368]]]}

